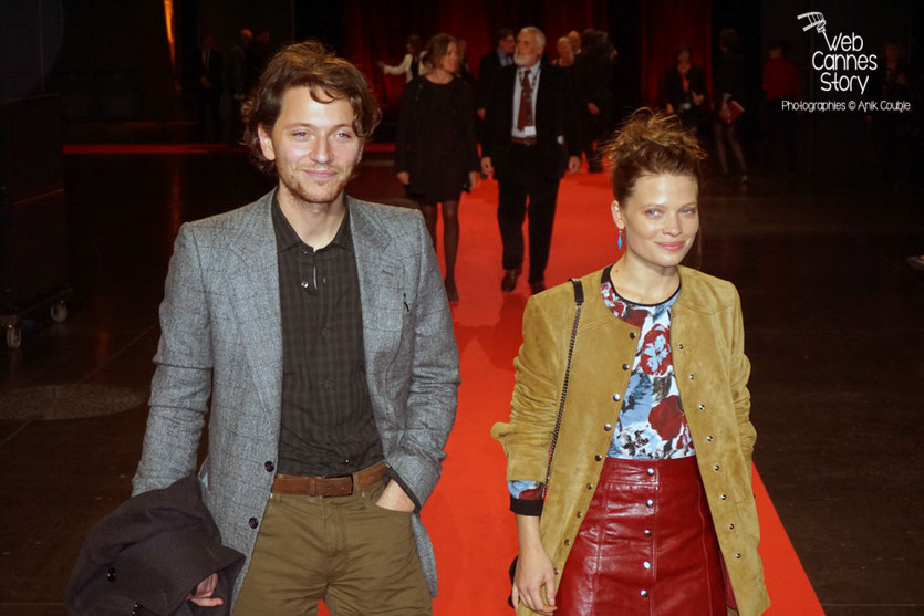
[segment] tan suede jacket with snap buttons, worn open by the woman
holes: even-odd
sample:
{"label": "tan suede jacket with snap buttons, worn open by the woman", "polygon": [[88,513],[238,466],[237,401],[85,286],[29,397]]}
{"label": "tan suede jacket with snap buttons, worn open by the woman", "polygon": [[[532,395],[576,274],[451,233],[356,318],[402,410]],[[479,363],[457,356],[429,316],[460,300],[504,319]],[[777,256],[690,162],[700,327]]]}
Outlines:
{"label": "tan suede jacket with snap buttons, worn open by the woman", "polygon": [[[603,303],[603,271],[581,279],[584,307],[568,386],[552,474],[540,521],[546,551],[560,575],[613,436],[629,384],[639,328],[615,319]],[[507,452],[508,480],[544,481],[568,344],[574,322],[570,283],[530,299],[523,345],[513,364],[510,421],[491,436]],[[750,364],[744,353],[738,292],[723,281],[681,268],[681,293],[671,311],[674,374],[696,461],[715,521],[738,613],[761,614],[770,602],[757,552],[760,530],[751,492]],[[531,614],[523,605],[518,614]]]}

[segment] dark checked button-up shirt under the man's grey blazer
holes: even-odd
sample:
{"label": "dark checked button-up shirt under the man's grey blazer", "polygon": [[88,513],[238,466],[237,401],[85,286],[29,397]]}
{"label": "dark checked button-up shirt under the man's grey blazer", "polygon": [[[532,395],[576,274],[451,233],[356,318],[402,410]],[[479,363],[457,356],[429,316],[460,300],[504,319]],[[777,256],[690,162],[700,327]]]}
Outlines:
{"label": "dark checked button-up shirt under the man's grey blazer", "polygon": [[368,396],[350,215],[320,250],[301,241],[273,197],[282,314],[279,472],[350,474],[384,456]]}

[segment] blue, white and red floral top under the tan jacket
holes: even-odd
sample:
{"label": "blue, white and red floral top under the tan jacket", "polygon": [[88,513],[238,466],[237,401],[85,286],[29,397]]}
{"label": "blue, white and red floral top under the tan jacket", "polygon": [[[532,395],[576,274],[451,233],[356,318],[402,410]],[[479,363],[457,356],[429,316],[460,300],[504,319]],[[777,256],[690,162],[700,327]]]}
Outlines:
{"label": "blue, white and red floral top under the tan jacket", "polygon": [[[641,330],[619,424],[610,441],[610,458],[645,460],[696,455],[671,356],[671,306],[679,292],[677,289],[660,304],[637,304],[622,297],[610,276],[604,276],[600,284],[600,294],[613,316]],[[542,498],[539,482],[507,483],[513,500]]]}

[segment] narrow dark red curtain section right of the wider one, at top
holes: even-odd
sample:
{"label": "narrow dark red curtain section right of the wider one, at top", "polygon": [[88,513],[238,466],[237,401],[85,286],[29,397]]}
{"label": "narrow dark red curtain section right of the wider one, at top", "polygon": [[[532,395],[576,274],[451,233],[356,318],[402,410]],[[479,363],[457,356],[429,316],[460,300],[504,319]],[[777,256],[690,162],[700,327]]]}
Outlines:
{"label": "narrow dark red curtain section right of the wider one, at top", "polygon": [[641,3],[642,101],[657,105],[665,71],[675,64],[677,48],[688,44],[692,61],[706,72],[713,91],[710,0],[647,0]]}

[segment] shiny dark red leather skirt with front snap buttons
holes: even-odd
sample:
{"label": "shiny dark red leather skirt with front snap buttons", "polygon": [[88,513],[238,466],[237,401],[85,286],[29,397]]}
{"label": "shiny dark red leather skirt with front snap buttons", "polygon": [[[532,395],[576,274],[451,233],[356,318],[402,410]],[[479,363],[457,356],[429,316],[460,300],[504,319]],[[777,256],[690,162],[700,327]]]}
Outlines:
{"label": "shiny dark red leather skirt with front snap buttons", "polygon": [[696,458],[606,458],[556,603],[557,616],[726,616]]}

